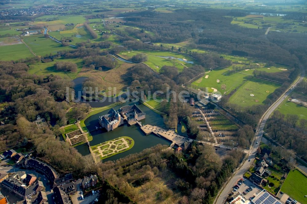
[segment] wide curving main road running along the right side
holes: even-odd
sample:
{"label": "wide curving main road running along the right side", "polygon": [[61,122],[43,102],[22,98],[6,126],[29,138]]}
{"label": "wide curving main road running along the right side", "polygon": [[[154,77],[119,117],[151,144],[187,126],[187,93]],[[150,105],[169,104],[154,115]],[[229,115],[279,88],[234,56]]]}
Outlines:
{"label": "wide curving main road running along the right side", "polygon": [[[234,172],[234,174],[232,175],[231,179],[228,181],[228,183],[225,184],[224,187],[222,187],[222,189],[220,190],[219,194],[216,196],[216,200],[214,203],[216,204],[221,204],[221,203],[225,203],[226,198],[228,197],[228,194],[230,193],[231,189],[233,188],[233,186],[235,185],[236,181],[241,179],[244,175],[244,173],[249,169],[249,167],[251,166],[251,164],[253,164],[254,160],[255,160],[255,155],[257,153],[257,148],[260,145],[261,139],[262,139],[262,135],[264,133],[263,129],[265,127],[266,121],[268,120],[268,118],[270,117],[270,115],[272,114],[272,112],[284,101],[286,100],[287,96],[290,95],[290,93],[292,93],[293,86],[296,86],[299,82],[301,82],[304,79],[305,76],[305,70],[301,69],[301,76],[297,79],[296,82],[294,82],[287,90],[285,93],[282,94],[282,96],[280,96],[278,98],[278,100],[276,100],[274,102],[274,104],[272,104],[270,106],[270,108],[268,108],[268,110],[262,115],[262,117],[259,120],[259,123],[257,125],[256,128],[256,133],[255,133],[255,138],[251,144],[251,148],[247,154],[247,160],[239,167],[237,168],[237,170]],[[250,159],[250,161],[248,161],[248,159]]]}

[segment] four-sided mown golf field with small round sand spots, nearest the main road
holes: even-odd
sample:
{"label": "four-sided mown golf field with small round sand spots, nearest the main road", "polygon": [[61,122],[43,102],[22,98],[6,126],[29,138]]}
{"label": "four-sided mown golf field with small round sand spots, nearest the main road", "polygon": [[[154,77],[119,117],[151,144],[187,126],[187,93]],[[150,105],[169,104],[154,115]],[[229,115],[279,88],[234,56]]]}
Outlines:
{"label": "four-sided mown golf field with small round sand spots, nearest the main road", "polygon": [[[245,82],[239,89],[230,97],[229,102],[242,107],[261,104],[266,97],[273,93],[280,85],[264,81],[257,78],[251,78]],[[251,96],[253,94],[254,96]]]}

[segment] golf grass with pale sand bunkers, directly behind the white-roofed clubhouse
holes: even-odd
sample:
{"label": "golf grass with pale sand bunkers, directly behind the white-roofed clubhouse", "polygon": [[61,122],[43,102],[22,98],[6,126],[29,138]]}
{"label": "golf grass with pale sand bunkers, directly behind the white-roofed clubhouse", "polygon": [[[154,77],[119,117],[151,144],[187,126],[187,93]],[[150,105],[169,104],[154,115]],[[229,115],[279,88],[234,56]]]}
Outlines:
{"label": "golf grass with pale sand bunkers, directly behind the white-roofed clubhouse", "polygon": [[[202,89],[205,91],[205,88],[208,87],[208,92],[213,92],[213,89],[217,89],[222,94],[228,94],[232,90],[239,87],[244,81],[248,80],[250,76],[241,73],[235,73],[227,75],[228,71],[225,69],[216,69],[212,70],[207,74],[204,74],[204,77],[192,82],[192,85],[195,85],[197,89]],[[206,78],[206,76],[208,76]],[[217,82],[217,80],[220,80]]]}

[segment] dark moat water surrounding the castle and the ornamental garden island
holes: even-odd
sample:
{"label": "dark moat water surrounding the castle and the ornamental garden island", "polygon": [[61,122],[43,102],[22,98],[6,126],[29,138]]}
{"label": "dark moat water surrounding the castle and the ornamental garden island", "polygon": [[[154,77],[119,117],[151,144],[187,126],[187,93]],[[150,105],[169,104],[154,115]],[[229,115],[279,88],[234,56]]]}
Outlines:
{"label": "dark moat water surrounding the castle and the ornamental garden island", "polygon": [[[81,89],[82,81],[85,79],[85,77],[82,77],[82,79],[80,78],[81,77],[77,78],[78,80],[77,79],[74,80],[76,86],[79,86],[79,88],[77,87],[77,89]],[[78,81],[79,84],[76,83],[76,81]],[[76,90],[76,86],[75,86],[75,90]],[[92,103],[99,104],[100,106],[98,107],[106,106],[106,105],[101,105],[100,103],[96,103],[96,102],[92,102]],[[115,102],[112,102],[112,103],[115,103]],[[109,103],[109,104],[112,104],[112,103]],[[126,103],[115,106],[114,109],[118,110],[122,106],[132,105],[132,104],[134,104],[134,102],[126,102]],[[155,113],[154,111],[152,111],[150,108],[147,108],[143,104],[139,104],[139,103],[136,103],[136,104],[143,112],[146,113],[146,118],[143,120],[140,120],[142,125],[151,124],[151,125],[157,125],[157,126],[165,128],[165,124],[163,123],[163,117],[161,115]],[[116,154],[115,156],[104,159],[103,161],[117,160],[129,154],[141,152],[143,149],[150,148],[157,144],[162,144],[162,145],[171,144],[170,141],[160,138],[154,134],[145,135],[138,125],[128,126],[125,123],[110,132],[107,132],[105,129],[96,130],[96,127],[99,127],[98,117],[101,115],[107,114],[108,111],[109,109],[102,111],[100,113],[97,113],[95,115],[91,115],[84,121],[84,124],[86,125],[87,129],[91,132],[91,135],[93,136],[93,140],[90,142],[90,145],[91,146],[97,145],[99,143],[102,143],[102,142],[105,142],[111,139],[115,139],[120,136],[129,136],[130,138],[134,140],[134,146],[126,152]],[[76,149],[82,155],[87,155],[90,153],[87,144],[76,146]]]}

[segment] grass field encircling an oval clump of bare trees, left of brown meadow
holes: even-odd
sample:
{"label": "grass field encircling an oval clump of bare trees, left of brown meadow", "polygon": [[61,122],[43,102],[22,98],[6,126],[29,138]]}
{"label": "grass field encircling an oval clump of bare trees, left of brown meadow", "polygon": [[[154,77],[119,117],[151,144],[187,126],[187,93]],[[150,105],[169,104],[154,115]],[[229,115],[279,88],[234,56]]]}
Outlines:
{"label": "grass field encircling an oval clump of bare trees, left of brown meadow", "polygon": [[[76,63],[78,68],[76,72],[64,72],[64,71],[57,71],[54,69],[53,65],[56,62],[72,62],[72,63]],[[30,74],[37,74],[37,75],[44,75],[44,76],[48,76],[49,74],[53,74],[53,75],[58,75],[62,78],[70,78],[70,79],[74,79],[77,77],[77,75],[80,73],[81,69],[82,69],[82,59],[54,59],[53,62],[47,62],[47,63],[42,63],[42,62],[37,62],[35,64],[31,64],[30,69],[29,69],[29,73]]]}

